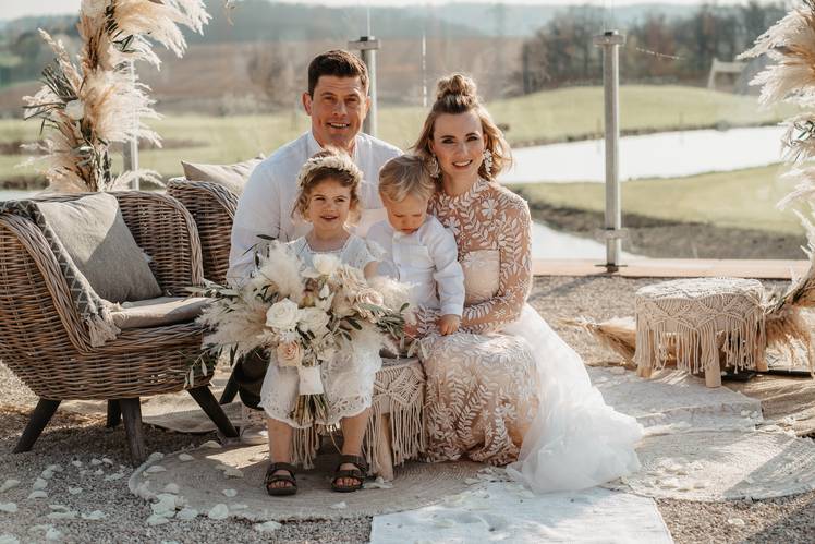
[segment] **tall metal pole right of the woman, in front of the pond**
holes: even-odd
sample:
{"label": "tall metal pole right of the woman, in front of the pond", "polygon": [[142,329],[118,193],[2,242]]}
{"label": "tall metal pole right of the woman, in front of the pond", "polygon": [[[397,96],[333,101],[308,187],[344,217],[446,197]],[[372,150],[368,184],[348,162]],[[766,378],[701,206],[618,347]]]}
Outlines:
{"label": "tall metal pole right of the woman, in front of the pond", "polygon": [[603,238],[606,240],[606,269],[617,271],[622,252],[622,213],[620,208],[619,149],[620,141],[620,46],[625,37],[617,31],[607,31],[594,37],[594,44],[603,48],[603,87],[606,119],[606,221]]}

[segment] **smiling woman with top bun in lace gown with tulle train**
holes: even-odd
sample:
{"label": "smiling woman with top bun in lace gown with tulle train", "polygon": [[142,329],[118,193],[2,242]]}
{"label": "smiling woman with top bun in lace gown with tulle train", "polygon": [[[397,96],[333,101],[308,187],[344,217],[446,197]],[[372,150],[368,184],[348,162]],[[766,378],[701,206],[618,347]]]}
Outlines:
{"label": "smiling woman with top bun in lace gown with tulle train", "polygon": [[607,406],[580,355],[526,303],[528,207],[495,180],[509,145],[461,74],[442,78],[414,150],[439,190],[430,211],[455,235],[466,302],[440,336],[419,312],[433,461],[507,464],[537,492],[581,489],[640,468],[642,426]]}

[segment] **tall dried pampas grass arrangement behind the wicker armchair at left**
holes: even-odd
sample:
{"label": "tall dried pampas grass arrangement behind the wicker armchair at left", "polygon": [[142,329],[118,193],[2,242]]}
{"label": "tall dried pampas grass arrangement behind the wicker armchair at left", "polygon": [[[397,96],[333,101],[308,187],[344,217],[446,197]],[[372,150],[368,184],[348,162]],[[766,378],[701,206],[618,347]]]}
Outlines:
{"label": "tall dried pampas grass arrangement behind the wicker armchair at left", "polygon": [[44,156],[28,162],[45,161],[50,190],[109,191],[136,176],[160,183],[146,170],[117,178],[111,171],[111,144],[146,140],[160,146],[158,134],[144,123],[159,117],[149,88],[131,67],[160,64],[150,40],[181,57],[186,43],[179,25],[202,32],[208,21],[202,0],[83,0],[77,63],[61,41],[39,31],[54,61],[42,71],[42,88],[23,98],[24,117],[41,122],[42,141],[27,148]]}

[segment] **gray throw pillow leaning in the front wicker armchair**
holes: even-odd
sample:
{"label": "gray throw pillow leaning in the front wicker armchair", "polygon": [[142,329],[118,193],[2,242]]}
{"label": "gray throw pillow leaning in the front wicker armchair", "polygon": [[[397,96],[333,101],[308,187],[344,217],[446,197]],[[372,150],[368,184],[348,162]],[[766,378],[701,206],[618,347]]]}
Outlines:
{"label": "gray throw pillow leaning in the front wicker armchair", "polygon": [[96,294],[111,302],[161,297],[149,257],[136,245],[113,195],[38,202],[37,207]]}

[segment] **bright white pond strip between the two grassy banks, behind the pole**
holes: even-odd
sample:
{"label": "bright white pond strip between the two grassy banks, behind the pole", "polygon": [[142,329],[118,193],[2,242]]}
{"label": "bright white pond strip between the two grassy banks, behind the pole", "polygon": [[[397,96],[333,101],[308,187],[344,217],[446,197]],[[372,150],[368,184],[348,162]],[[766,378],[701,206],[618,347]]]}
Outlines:
{"label": "bright white pond strip between the two grassy banks, behind the pole", "polygon": [[[781,161],[781,126],[729,131],[660,132],[620,138],[620,180],[674,178],[773,165]],[[512,150],[514,166],[503,183],[596,181],[605,178],[601,140]]]}

